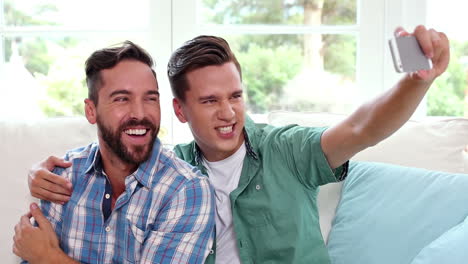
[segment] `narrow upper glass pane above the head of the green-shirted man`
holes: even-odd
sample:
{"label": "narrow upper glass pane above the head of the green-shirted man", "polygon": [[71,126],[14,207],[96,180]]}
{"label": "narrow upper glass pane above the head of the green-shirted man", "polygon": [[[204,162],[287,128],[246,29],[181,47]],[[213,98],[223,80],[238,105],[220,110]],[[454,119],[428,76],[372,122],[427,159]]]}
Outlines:
{"label": "narrow upper glass pane above the head of the green-shirted man", "polygon": [[198,4],[201,24],[356,24],[356,0],[198,0]]}

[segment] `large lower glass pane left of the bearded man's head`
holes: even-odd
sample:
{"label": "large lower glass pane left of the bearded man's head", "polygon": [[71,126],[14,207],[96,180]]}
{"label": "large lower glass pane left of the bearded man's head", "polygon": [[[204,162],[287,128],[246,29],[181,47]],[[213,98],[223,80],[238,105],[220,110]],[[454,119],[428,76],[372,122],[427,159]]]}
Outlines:
{"label": "large lower glass pane left of the bearded man's head", "polygon": [[[142,35],[97,37],[16,37],[5,40],[6,63],[0,64],[2,118],[82,115],[87,97],[84,62],[88,56],[130,38],[142,47]],[[14,109],[14,111],[12,111]]]}

